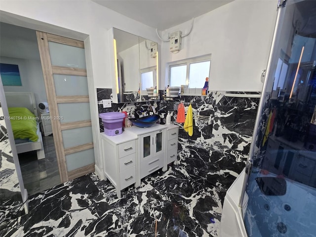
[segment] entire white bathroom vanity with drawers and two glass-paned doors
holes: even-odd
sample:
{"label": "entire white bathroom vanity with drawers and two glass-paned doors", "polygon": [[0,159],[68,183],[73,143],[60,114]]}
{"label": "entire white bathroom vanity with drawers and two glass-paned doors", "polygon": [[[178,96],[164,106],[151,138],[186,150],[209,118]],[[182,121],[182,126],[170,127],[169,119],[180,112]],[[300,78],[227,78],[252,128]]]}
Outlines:
{"label": "entire white bathroom vanity with drawers and two glass-paned doors", "polygon": [[120,197],[122,189],[132,184],[138,187],[142,178],[160,168],[166,171],[169,163],[176,163],[178,126],[131,126],[117,136],[101,133],[101,143],[104,177]]}

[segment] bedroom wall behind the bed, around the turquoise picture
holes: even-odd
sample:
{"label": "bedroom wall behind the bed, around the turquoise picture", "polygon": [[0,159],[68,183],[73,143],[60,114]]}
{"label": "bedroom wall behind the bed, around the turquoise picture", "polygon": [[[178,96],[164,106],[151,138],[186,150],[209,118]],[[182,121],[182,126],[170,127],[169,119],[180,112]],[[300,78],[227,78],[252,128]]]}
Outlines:
{"label": "bedroom wall behind the bed, around the turquoise picture", "polygon": [[33,92],[37,109],[40,111],[39,103],[47,102],[40,60],[0,57],[0,62],[18,65],[22,82],[22,86],[3,86],[4,91]]}

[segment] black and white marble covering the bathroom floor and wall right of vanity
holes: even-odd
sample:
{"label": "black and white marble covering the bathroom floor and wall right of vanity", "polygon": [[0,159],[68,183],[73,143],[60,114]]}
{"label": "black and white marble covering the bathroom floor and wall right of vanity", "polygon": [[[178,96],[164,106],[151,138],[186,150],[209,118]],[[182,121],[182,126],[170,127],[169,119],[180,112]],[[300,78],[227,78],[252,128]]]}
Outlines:
{"label": "black and white marble covering the bathroom floor and wall right of vanity", "polygon": [[226,191],[247,159],[259,99],[211,92],[160,101],[160,109],[174,111],[173,122],[180,101],[186,109],[191,103],[194,114],[211,115],[212,123],[195,121],[192,137],[179,124],[176,165],[121,198],[95,174],[41,192],[31,197],[29,214],[0,236],[152,237],[157,220],[158,236],[216,237]]}

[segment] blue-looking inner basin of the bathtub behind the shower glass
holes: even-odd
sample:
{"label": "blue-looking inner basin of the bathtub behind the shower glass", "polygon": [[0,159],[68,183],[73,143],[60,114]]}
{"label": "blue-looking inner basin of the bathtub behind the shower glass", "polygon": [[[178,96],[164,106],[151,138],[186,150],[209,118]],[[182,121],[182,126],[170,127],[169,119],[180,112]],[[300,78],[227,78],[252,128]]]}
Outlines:
{"label": "blue-looking inner basin of the bathtub behind the shower glass", "polygon": [[[259,170],[257,170],[259,171]],[[285,179],[286,192],[282,196],[264,195],[255,181],[263,175],[252,170],[246,193],[249,197],[244,224],[249,237],[315,237],[315,189]]]}

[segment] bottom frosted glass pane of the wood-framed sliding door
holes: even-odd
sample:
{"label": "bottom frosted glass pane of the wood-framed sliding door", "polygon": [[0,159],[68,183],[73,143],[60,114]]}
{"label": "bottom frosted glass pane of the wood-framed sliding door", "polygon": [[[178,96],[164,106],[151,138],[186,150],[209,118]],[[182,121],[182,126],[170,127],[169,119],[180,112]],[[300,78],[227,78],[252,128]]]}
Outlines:
{"label": "bottom frosted glass pane of the wood-framed sliding door", "polygon": [[93,148],[66,156],[67,170],[71,171],[94,163]]}

